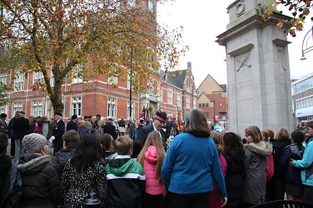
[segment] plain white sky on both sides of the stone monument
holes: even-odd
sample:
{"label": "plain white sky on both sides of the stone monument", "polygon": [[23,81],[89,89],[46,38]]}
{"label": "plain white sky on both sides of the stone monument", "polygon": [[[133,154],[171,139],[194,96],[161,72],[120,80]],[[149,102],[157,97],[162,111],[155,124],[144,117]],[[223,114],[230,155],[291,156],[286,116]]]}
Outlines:
{"label": "plain white sky on both sides of the stone monument", "polygon": [[[179,26],[184,28],[182,38],[184,44],[189,46],[189,50],[179,58],[177,69],[187,69],[187,62],[191,62],[197,88],[207,74],[210,74],[220,85],[227,84],[225,46],[219,46],[215,41],[216,36],[226,31],[226,26],[229,24],[226,8],[234,1],[217,2],[176,0],[165,5],[158,4],[157,7],[159,23],[166,23],[168,28],[179,28]],[[285,11],[286,8],[279,6],[278,10]],[[296,37],[288,37],[292,42],[288,46],[291,77],[305,76],[313,72],[313,51],[305,54],[307,60],[300,60],[303,38],[312,28],[312,24],[310,18],[307,18],[304,30],[297,33]],[[308,44],[313,45],[312,38]]]}

